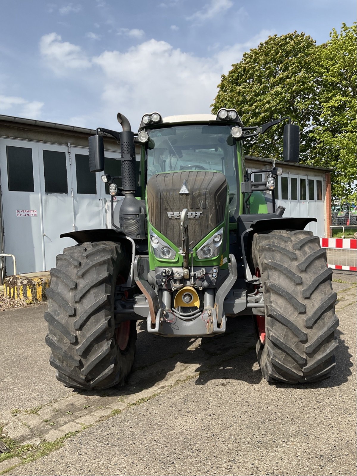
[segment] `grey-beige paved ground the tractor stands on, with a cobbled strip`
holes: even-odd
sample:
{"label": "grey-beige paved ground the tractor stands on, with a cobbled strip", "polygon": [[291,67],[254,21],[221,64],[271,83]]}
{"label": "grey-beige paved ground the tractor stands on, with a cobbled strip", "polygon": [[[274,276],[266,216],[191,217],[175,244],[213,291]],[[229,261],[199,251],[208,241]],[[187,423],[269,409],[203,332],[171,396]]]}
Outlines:
{"label": "grey-beige paved ground the tractor stands on, with a cobbled strip", "polygon": [[262,379],[247,317],[202,340],[139,323],[127,387],[74,392],[48,364],[46,305],[0,313],[3,431],[33,445],[78,432],[36,461],[0,465],[18,464],[13,475],[355,475],[356,274],[333,280],[337,366],[300,386]]}

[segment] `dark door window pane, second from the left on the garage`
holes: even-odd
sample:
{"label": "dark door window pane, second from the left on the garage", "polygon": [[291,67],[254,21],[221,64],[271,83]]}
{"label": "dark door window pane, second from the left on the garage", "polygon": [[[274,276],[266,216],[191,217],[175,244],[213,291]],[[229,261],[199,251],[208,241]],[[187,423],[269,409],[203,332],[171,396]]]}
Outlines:
{"label": "dark door window pane, second from the left on the garage", "polygon": [[68,193],[65,152],[44,150],[43,170],[46,193]]}

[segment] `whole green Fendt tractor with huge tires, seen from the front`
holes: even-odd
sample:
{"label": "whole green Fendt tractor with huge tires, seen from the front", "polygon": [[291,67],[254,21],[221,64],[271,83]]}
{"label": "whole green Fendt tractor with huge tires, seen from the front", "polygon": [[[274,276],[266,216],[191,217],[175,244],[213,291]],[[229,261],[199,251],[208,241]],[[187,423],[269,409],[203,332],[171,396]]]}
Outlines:
{"label": "whole green Fendt tractor with huge tires, seen from the front", "polygon": [[217,116],[145,114],[136,134],[123,114],[118,121],[120,133],[99,128],[89,138],[91,172],[104,170],[103,136],[120,143],[121,177],[101,177],[112,226],[60,235],[77,244],[51,269],[46,343],[57,379],[81,389],[123,385],[140,319],[158,336],[212,337],[249,315],[266,380],[329,377],[337,295],[326,251],[304,231],[316,218],[283,218],[274,200],[282,169],[272,161],[265,180],[254,181],[262,171],[248,173],[243,154],[243,140],[286,121],[283,158],[297,162],[298,126],[283,118],[244,127],[225,108]]}

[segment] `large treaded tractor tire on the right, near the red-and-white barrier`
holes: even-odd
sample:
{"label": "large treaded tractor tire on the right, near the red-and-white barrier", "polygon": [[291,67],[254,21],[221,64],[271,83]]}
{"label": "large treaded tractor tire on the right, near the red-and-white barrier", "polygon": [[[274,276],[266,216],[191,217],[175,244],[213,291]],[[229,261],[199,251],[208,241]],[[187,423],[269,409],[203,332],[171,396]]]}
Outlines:
{"label": "large treaded tractor tire on the right, near the red-and-white barrier", "polygon": [[257,316],[257,356],[268,381],[314,382],[335,367],[339,324],[326,251],[310,231],[275,230],[252,243],[265,316]]}

